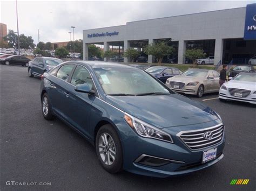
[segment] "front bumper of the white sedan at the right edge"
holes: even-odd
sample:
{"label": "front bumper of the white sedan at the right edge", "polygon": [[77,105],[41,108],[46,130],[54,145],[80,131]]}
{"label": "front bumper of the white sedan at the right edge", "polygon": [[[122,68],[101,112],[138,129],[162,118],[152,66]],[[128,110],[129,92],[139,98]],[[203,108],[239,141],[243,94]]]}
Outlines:
{"label": "front bumper of the white sedan at the right edge", "polygon": [[219,98],[221,98],[223,100],[233,100],[233,101],[247,102],[247,103],[256,104],[256,94],[253,94],[253,92],[250,95],[248,95],[247,97],[245,97],[245,98],[240,98],[240,97],[232,96],[228,92],[228,90],[220,88],[220,90],[219,90]]}

